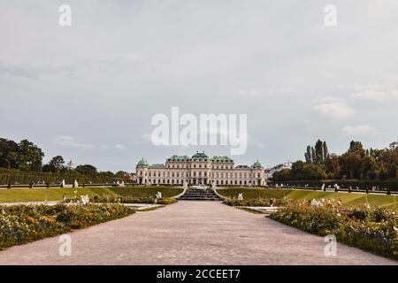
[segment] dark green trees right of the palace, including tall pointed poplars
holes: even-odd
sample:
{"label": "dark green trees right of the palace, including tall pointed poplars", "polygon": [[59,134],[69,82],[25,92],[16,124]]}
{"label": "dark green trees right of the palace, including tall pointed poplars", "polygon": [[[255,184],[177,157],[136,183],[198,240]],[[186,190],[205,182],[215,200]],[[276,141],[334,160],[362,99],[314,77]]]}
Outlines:
{"label": "dark green trees right of the palace, including tall pointed poplars", "polygon": [[272,180],[397,180],[398,176],[398,141],[386,149],[364,149],[361,142],[351,141],[339,156],[318,140],[307,147],[304,158],[291,169],[274,172]]}

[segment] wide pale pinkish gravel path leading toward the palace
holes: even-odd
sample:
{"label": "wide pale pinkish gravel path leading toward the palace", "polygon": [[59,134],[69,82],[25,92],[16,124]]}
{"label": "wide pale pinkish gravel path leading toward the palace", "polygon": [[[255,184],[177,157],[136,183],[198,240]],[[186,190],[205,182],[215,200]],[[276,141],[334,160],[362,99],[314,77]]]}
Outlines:
{"label": "wide pale pinkish gravel path leading toward the palace", "polygon": [[218,202],[181,201],[58,237],[0,251],[0,264],[398,264]]}

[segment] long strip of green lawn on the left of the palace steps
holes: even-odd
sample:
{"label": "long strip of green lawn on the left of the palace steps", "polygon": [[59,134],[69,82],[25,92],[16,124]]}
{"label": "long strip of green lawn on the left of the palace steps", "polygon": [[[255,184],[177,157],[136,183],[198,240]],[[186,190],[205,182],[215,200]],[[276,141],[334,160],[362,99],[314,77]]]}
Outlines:
{"label": "long strip of green lawn on the left of the palace steps", "polygon": [[0,203],[19,203],[19,202],[43,202],[43,201],[62,201],[62,196],[72,198],[74,191],[77,190],[77,196],[88,195],[93,198],[95,195],[111,196],[131,196],[145,197],[155,196],[157,192],[162,193],[162,197],[172,197],[182,193],[181,187],[73,187],[65,188],[9,188],[0,190]]}

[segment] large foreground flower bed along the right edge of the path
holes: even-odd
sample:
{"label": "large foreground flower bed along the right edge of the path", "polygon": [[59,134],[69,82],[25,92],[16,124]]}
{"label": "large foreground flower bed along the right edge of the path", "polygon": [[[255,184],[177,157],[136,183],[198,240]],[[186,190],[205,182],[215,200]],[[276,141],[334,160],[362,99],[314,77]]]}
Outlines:
{"label": "large foreground flower bed along the right edge of the path", "polygon": [[398,259],[398,221],[394,210],[380,207],[345,207],[341,203],[289,201],[271,214],[288,226],[338,241],[380,256]]}

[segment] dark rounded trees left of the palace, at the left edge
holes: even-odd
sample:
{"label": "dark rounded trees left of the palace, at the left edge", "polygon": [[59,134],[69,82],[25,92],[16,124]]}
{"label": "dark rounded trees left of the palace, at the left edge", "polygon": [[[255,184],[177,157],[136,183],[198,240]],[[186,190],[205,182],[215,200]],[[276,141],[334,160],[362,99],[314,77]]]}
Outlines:
{"label": "dark rounded trees left of the palace, at the left edge", "polygon": [[[127,172],[111,171],[98,172],[96,166],[92,164],[80,164],[73,168],[70,164],[65,165],[65,159],[61,156],[52,157],[48,164],[42,164],[44,153],[33,142],[22,140],[14,142],[8,139],[0,138],[0,168],[12,172],[20,172],[22,175],[42,173],[51,173],[59,176],[63,175],[83,175],[89,176],[93,180],[125,179]],[[2,171],[4,172],[4,170]]]}

